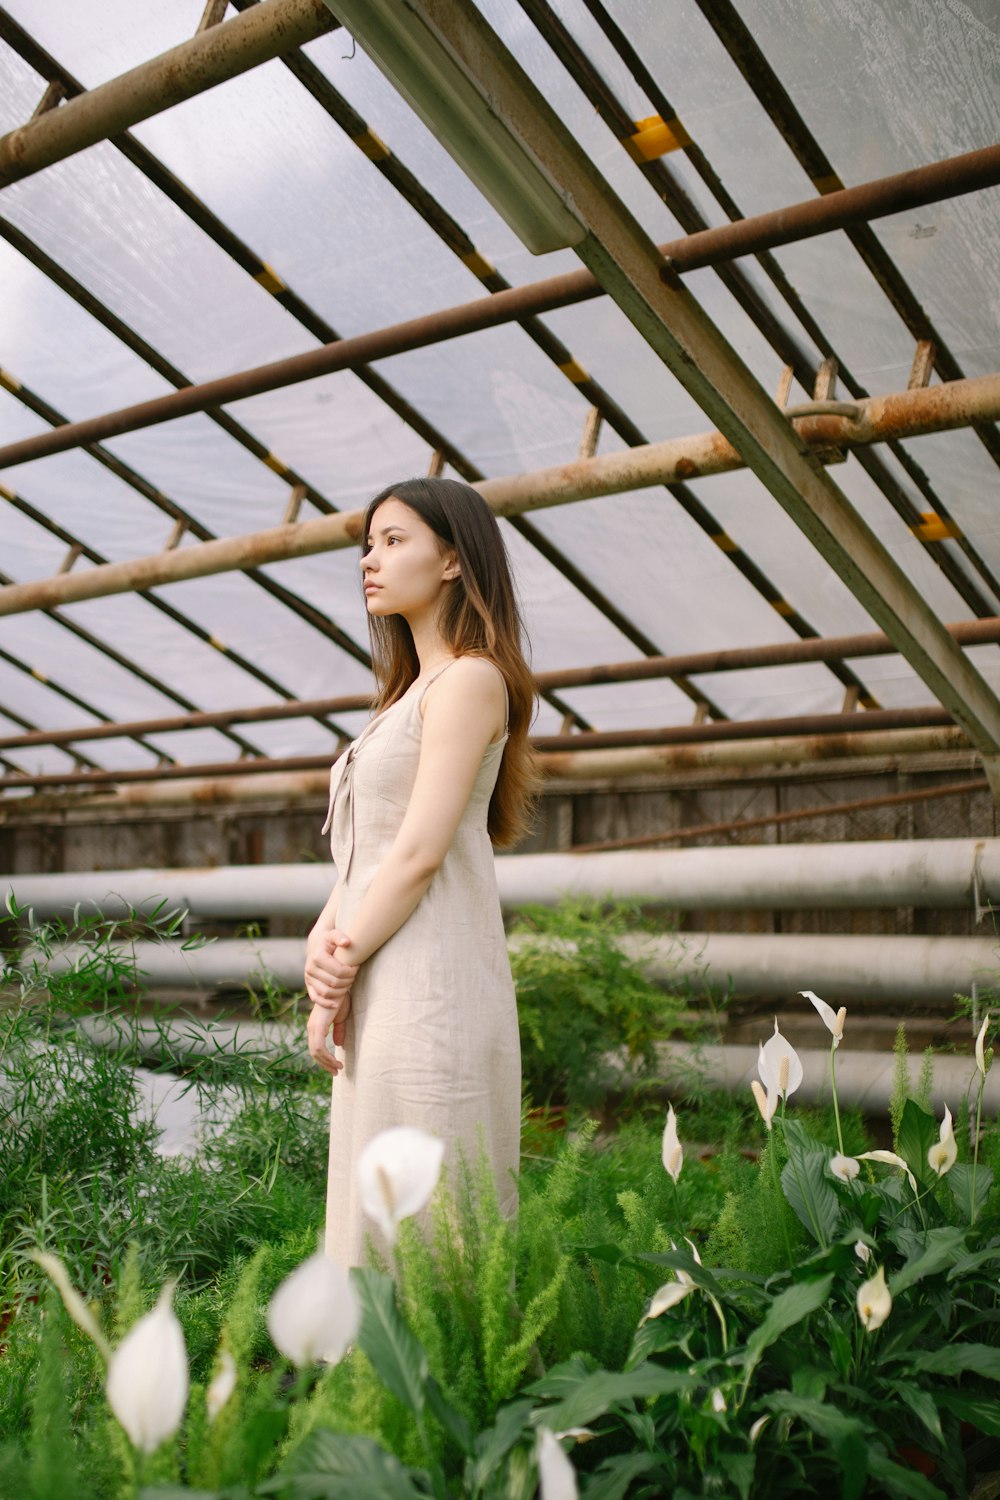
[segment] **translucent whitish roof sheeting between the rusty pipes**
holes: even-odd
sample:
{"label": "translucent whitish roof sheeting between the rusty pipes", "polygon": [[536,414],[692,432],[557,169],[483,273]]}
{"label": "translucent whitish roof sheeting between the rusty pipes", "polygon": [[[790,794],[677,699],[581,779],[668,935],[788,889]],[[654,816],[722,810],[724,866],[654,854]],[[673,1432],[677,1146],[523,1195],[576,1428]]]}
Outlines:
{"label": "translucent whitish roof sheeting between the rusty pipes", "polygon": [[[721,30],[724,15],[706,0],[609,0],[652,81],[586,0],[550,0],[582,60],[576,76],[520,6],[478,6],[604,178],[619,225],[631,214],[654,242],[681,238],[681,220],[724,225],[732,213],[814,198],[807,158],[825,154],[852,184],[997,140],[1000,38],[984,4],[819,0],[804,27],[792,0],[745,0],[738,20],[765,62],[751,57],[744,76],[706,20]],[[9,0],[7,10],[94,87],[192,38],[204,3]],[[595,416],[598,456],[709,429],[609,296],[438,340],[435,316],[489,297],[498,278],[525,286],[576,272],[580,260],[568,249],[532,256],[345,30],[303,54],[312,93],[274,58],[138,122],[135,159],[100,141],[0,192],[0,448],[324,340],[412,320],[429,320],[429,339],[367,368],[253,396],[237,387],[214,412],[112,435],[97,452],[10,465],[0,477],[4,579],[82,576],[105,560],[180,555],[202,537],[357,510],[393,480],[430,470],[495,480],[556,468],[573,478]],[[774,70],[801,116],[787,140],[754,68]],[[30,118],[45,82],[16,45],[0,44],[0,134]],[[693,148],[642,171],[621,136],[661,108],[676,112]],[[162,172],[172,174],[172,196],[157,186]],[[955,368],[1000,369],[997,243],[1000,192],[990,189],[874,220],[859,244],[829,232],[777,246],[769,260],[703,267],[685,285],[766,393],[811,400],[820,362],[835,357],[826,394],[846,400],[906,390],[928,320],[933,384]],[[739,405],[739,380],[727,394]],[[895,452],[876,444],[829,466],[942,621],[1000,614],[999,458],[994,424],[904,436]],[[538,544],[501,525],[538,670],[630,662],[645,650],[789,642],[796,632],[846,636],[873,630],[882,614],[750,470],[693,474],[675,494],[657,484],[531,510],[525,520]],[[148,598],[66,602],[58,618],[0,614],[0,738],[18,718],[48,728],[166,718],[187,705],[366,694],[372,681],[357,548],[265,560],[256,578],[168,582]],[[1000,690],[1000,650],[969,658]],[[898,654],[847,664],[880,705],[936,700]],[[537,728],[559,732],[564,708],[598,730],[679,728],[697,692],[735,720],[835,714],[843,676],[807,663],[694,674],[688,690],[670,680],[567,687],[540,705]],[[166,729],[148,744],[117,736],[81,750],[123,770],[159,754],[225,760],[238,741],[277,759],[324,756],[337,732],[364,720],[349,710],[328,728],[297,712],[237,735]],[[75,764],[54,747],[7,759],[37,774]]]}

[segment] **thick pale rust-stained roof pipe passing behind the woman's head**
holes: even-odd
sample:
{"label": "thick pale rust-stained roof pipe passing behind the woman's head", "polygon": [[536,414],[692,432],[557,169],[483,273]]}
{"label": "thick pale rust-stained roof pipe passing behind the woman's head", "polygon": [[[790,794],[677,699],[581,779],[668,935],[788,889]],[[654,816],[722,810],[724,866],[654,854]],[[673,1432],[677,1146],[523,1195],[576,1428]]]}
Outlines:
{"label": "thick pale rust-stained roof pipe passing behind the woman's head", "polygon": [[[498,297],[502,296],[505,294],[498,292]],[[186,392],[177,394],[183,396]],[[831,447],[876,442],[883,435],[895,438],[937,432],[973,420],[994,422],[999,417],[1000,375],[982,375],[949,386],[873,396],[856,404],[855,417],[802,416],[796,418],[796,428],[807,442],[823,454]],[[54,429],[55,434],[64,430],[64,428]],[[495,514],[517,516],[600,495],[669,484],[696,476],[723,474],[741,466],[742,459],[721,432],[705,432],[591,459],[576,459],[555,468],[537,470],[534,474],[480,480],[475,489]],[[192,548],[157,552],[153,556],[109,562],[79,573],[60,573],[31,584],[7,585],[0,588],[0,615],[49,609],[82,598],[102,598],[187,578],[205,578],[213,573],[258,567],[262,562],[333,552],[358,542],[363,519],[364,513],[360,510],[339,512],[241,537],[222,537]]]}

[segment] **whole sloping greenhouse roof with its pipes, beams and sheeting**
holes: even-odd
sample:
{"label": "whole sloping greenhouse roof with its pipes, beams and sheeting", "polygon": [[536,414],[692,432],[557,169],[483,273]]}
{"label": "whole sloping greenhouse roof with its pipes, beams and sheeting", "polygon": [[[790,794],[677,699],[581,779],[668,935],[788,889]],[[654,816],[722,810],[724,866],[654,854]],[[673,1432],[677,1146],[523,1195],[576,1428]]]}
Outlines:
{"label": "whole sloping greenhouse roof with its pipes, beams and sheeting", "polygon": [[[444,38],[481,120],[456,126],[424,63],[435,98],[415,112],[420,80],[375,60],[384,10],[406,54],[421,18]],[[853,711],[955,722],[1000,754],[996,6],[340,15],[0,10],[3,794],[328,759],[370,690],[336,516],[426,472],[489,482],[505,518],[543,746]],[[478,46],[484,27],[498,40]],[[243,39],[270,60],[225,76]],[[522,172],[505,216],[510,184],[477,166],[493,129]],[[507,222],[525,162],[544,232],[565,230],[538,255]],[[649,444],[670,447],[640,454],[645,477],[613,459]],[[973,620],[993,624],[966,650],[942,627]],[[877,630],[900,650],[796,660],[801,640]],[[591,670],[765,646],[784,650]],[[169,724],[288,700],[309,706]],[[168,726],[34,734],[141,720]]]}

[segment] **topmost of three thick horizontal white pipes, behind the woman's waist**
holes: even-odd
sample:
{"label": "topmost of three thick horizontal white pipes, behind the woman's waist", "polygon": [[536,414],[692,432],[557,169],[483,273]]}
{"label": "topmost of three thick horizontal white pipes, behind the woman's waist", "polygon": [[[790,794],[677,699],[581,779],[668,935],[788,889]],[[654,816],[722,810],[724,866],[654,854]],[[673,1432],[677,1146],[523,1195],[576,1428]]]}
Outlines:
{"label": "topmost of three thick horizontal white pipes, behind the woman's waist", "polygon": [[[166,900],[196,918],[304,920],[325,903],[333,876],[330,864],[16,874],[0,878],[0,896],[10,890],[40,916],[76,903],[117,915]],[[1000,838],[502,855],[496,879],[505,908],[612,896],[675,910],[970,909],[1000,902]]]}

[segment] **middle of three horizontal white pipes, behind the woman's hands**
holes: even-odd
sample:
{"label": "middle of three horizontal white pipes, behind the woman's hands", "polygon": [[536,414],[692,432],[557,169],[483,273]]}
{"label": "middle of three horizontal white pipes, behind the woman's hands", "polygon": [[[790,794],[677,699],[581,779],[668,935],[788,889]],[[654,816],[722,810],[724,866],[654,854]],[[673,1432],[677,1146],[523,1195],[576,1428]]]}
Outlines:
{"label": "middle of three horizontal white pipes, behind the woman's hands", "polygon": [[[523,940],[523,939],[522,939]],[[516,946],[517,938],[511,939]],[[684,933],[640,938],[624,946],[664,988],[735,994],[816,990],[829,1000],[885,999],[940,1004],[993,982],[997,950],[990,938],[859,938],[772,933]],[[73,966],[84,945],[64,948],[52,964]],[[204,948],[138,942],[135,962],[148,987],[301,987],[306,954],[300,938],[229,939]]]}

